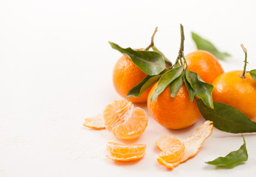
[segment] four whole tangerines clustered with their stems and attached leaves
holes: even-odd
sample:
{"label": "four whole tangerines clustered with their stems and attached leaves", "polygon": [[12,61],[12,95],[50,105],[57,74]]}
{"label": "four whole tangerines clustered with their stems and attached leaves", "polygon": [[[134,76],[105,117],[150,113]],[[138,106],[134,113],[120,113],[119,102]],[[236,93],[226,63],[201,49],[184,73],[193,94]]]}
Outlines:
{"label": "four whole tangerines clustered with their stems and attached leaves", "polygon": [[[156,49],[155,34],[156,31],[151,45],[140,51],[110,43],[123,54],[113,70],[114,88],[122,97],[134,103],[147,103],[151,117],[165,128],[181,129],[193,125],[201,117],[200,100],[211,109],[215,102],[231,105],[249,119],[256,120],[255,70],[246,72],[245,65],[243,71],[224,73],[217,58],[201,49],[184,56],[182,25],[179,55],[172,64]],[[150,48],[153,51],[148,51]],[[216,50],[212,49],[221,58],[229,56]]]}

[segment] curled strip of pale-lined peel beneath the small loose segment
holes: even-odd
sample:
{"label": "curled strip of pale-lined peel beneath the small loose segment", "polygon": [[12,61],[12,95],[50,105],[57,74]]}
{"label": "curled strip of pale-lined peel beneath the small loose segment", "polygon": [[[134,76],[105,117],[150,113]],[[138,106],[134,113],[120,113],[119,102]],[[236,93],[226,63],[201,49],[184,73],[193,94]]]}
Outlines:
{"label": "curled strip of pale-lined peel beneath the small loose segment", "polygon": [[[204,141],[212,134],[212,128],[212,121],[207,120],[202,125],[200,125],[190,137],[184,139],[184,156],[182,156],[179,161],[167,162],[161,156],[159,156],[157,161],[159,162],[159,164],[165,165],[165,167],[168,167],[170,169],[173,169],[173,167],[176,167],[182,162],[187,161],[187,159],[190,159],[191,157],[195,156],[196,153],[198,153],[201,146],[204,144]],[[168,138],[169,136],[167,135],[160,136],[159,139],[156,141],[156,146],[159,147],[160,150],[165,150],[165,141]]]}

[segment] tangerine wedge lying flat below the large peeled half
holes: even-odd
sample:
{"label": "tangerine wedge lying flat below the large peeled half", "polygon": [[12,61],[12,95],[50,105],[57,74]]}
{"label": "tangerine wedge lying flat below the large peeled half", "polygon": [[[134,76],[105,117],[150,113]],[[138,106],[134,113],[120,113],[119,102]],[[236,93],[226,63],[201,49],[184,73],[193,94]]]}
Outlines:
{"label": "tangerine wedge lying flat below the large peeled half", "polygon": [[145,144],[121,144],[117,142],[107,143],[106,156],[117,161],[132,161],[145,156]]}

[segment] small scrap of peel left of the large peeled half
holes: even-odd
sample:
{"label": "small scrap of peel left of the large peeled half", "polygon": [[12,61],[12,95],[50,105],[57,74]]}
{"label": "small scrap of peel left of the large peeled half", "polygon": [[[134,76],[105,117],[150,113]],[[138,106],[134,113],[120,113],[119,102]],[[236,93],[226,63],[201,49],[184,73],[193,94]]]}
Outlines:
{"label": "small scrap of peel left of the large peeled half", "polygon": [[104,129],[105,123],[103,119],[103,114],[97,114],[96,117],[88,117],[85,119],[85,122],[83,123],[84,126],[88,128],[94,128],[94,129]]}

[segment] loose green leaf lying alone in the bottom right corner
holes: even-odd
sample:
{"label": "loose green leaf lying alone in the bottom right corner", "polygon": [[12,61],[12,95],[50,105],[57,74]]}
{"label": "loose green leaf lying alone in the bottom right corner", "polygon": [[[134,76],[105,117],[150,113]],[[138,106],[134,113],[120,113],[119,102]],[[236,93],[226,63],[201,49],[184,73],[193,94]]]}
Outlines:
{"label": "loose green leaf lying alone in the bottom right corner", "polygon": [[243,145],[238,150],[232,151],[231,153],[227,154],[224,157],[218,157],[213,161],[205,162],[205,163],[213,164],[221,167],[232,168],[240,164],[241,162],[247,161],[247,159],[248,159],[248,153],[246,150],[246,141],[243,137]]}

